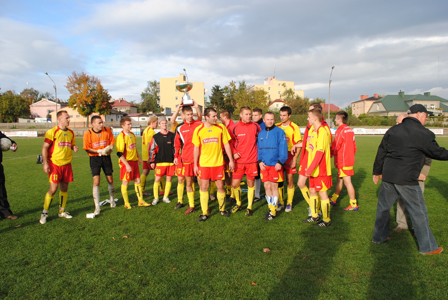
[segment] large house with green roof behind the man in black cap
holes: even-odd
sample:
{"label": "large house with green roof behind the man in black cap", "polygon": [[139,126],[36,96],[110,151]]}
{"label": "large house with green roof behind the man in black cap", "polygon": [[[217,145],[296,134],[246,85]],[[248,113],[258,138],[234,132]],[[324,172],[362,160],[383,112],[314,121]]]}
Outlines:
{"label": "large house with green roof behind the man in black cap", "polygon": [[431,96],[431,92],[423,95],[405,95],[400,91],[398,95],[387,95],[372,103],[368,114],[373,116],[398,116],[408,111],[414,104],[422,104],[436,116],[448,115],[448,100],[439,96]]}

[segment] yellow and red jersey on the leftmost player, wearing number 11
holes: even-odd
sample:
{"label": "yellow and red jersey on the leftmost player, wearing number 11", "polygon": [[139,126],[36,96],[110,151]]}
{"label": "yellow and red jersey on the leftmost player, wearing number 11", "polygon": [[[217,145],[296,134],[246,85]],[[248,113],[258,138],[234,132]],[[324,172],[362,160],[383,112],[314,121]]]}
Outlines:
{"label": "yellow and red jersey on the leftmost player, wearing number 11", "polygon": [[50,144],[47,158],[55,165],[67,165],[72,162],[72,146],[75,145],[75,134],[67,128],[62,130],[56,126],[45,133],[45,143]]}

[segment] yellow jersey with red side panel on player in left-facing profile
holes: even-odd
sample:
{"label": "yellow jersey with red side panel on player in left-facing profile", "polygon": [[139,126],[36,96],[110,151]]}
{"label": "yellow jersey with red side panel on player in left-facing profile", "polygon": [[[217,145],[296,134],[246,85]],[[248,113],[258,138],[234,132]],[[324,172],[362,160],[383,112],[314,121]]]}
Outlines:
{"label": "yellow jersey with red side panel on player in left-facing profile", "polygon": [[[323,157],[318,162],[316,168],[311,172],[311,176],[329,176],[332,174],[330,161],[330,135],[325,129],[325,126],[321,125],[317,130],[314,129],[314,126],[311,126],[306,141],[306,151],[308,151],[307,169],[313,162],[316,153],[319,151],[323,152]],[[309,170],[307,170],[306,173],[309,173]]]}

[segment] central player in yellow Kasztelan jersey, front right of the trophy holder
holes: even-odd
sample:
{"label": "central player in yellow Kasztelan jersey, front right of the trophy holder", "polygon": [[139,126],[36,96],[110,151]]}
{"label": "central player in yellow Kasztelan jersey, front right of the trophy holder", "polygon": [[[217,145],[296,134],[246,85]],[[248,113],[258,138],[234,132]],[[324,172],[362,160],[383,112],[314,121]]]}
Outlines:
{"label": "central player in yellow Kasztelan jersey, front right of the trophy holder", "polygon": [[[224,190],[224,159],[222,145],[229,157],[229,168],[233,170],[232,149],[228,144],[230,136],[222,124],[217,124],[218,114],[211,107],[204,109],[205,123],[196,127],[193,132],[194,144],[194,174],[198,176],[201,195],[202,214],[198,222],[208,219],[208,187],[210,180],[214,181],[218,190],[216,196],[220,207],[220,214],[228,217],[225,210]],[[198,165],[199,162],[199,165]]]}

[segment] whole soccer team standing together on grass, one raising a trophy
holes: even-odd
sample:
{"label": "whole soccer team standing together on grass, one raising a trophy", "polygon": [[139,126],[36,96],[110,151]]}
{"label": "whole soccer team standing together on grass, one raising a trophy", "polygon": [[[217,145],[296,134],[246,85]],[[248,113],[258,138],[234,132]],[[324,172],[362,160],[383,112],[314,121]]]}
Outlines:
{"label": "whole soccer team standing together on grass, one raising a trophy", "polygon": [[[308,125],[303,139],[299,127],[290,121],[291,108],[280,109],[281,122],[275,123],[275,116],[259,108],[251,110],[247,106],[240,109],[240,120],[234,122],[227,110],[218,113],[213,108],[204,109],[205,122],[198,104],[197,120],[191,106],[178,105],[171,118],[171,131],[166,117],[151,116],[148,127],[142,135],[142,157],[137,150],[137,140],[132,130],[132,120],[123,117],[121,133],[114,138],[112,131],[103,126],[99,116],[91,117],[92,128],[84,133],[83,149],[90,158],[90,171],[93,176],[93,199],[95,215],[100,213],[99,183],[100,173],[106,176],[111,207],[115,207],[115,185],[113,182],[112,158],[114,146],[120,167],[121,194],[125,209],[132,209],[129,203],[128,185],[134,181],[138,206],[148,207],[162,202],[170,203],[172,177],[177,176],[177,203],[173,209],[184,207],[184,188],[188,208],[184,214],[196,211],[194,195],[195,180],[199,185],[201,214],[197,221],[210,217],[209,200],[218,200],[219,213],[229,217],[232,213],[244,210],[242,204],[241,180],[246,176],[247,207],[245,215],[253,215],[252,205],[260,200],[260,186],[263,182],[268,211],[263,220],[271,221],[284,209],[291,212],[295,183],[293,175],[298,173],[297,185],[309,204],[308,217],[302,222],[312,222],[316,226],[330,226],[330,205],[336,204],[343,184],[347,188],[350,204],[345,210],[358,210],[355,191],[351,183],[353,175],[356,143],[354,133],[347,126],[347,113],[336,114],[339,125],[334,139],[329,126],[323,119],[320,104],[313,103],[308,112]],[[176,122],[181,113],[182,121]],[[65,211],[68,198],[68,185],[73,181],[71,167],[72,150],[78,152],[75,136],[68,128],[70,118],[66,111],[57,113],[59,125],[48,130],[42,148],[43,171],[48,174],[50,188],[45,195],[43,212],[39,222],[47,222],[48,210],[59,187],[59,217],[71,218]],[[160,131],[155,129],[160,126]],[[336,189],[328,197],[332,187],[330,157],[334,157],[338,170]],[[140,175],[139,165],[143,165]],[[151,195],[145,191],[146,178],[150,170],[155,172],[153,184],[154,199],[143,200]],[[286,175],[285,175],[286,174]],[[166,178],[164,178],[166,177]],[[309,178],[308,187],[306,180]],[[284,181],[287,197],[284,199]],[[210,190],[210,191],[209,191]],[[216,191],[216,196],[215,196]],[[226,203],[232,204],[228,211]]]}

